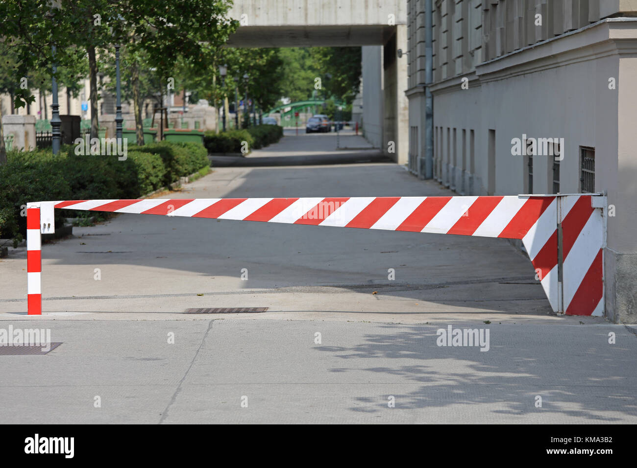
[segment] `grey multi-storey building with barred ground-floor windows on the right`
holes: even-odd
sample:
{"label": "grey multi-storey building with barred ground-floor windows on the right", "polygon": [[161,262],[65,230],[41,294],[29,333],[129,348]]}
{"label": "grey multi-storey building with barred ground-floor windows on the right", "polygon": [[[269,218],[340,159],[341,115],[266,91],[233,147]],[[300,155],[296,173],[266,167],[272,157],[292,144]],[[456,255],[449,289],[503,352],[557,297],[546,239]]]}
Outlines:
{"label": "grey multi-storey building with barred ground-floor windows on the right", "polygon": [[[615,207],[605,249],[606,315],[636,322],[637,3],[407,4],[410,170],[463,195],[606,192]],[[520,154],[515,143],[524,136],[563,138],[562,159]]]}

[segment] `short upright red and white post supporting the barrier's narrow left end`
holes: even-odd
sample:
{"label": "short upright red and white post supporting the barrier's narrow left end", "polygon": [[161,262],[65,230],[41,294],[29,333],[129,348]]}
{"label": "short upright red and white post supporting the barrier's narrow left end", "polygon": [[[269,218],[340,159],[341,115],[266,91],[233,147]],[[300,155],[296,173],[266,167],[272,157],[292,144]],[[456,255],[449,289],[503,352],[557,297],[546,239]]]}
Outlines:
{"label": "short upright red and white post supporting the barrier's narrow left end", "polygon": [[40,208],[27,205],[27,313],[42,315],[42,243],[40,236]]}

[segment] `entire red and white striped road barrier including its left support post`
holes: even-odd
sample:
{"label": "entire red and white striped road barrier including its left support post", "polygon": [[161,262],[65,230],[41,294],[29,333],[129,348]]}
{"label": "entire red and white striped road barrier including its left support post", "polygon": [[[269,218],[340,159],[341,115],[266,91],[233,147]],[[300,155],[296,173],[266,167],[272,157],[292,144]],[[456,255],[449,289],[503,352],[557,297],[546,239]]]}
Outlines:
{"label": "entire red and white striped road barrier including its left support post", "polygon": [[41,314],[40,234],[54,208],[520,239],[557,313],[604,313],[606,197],[334,197],[67,200],[27,204],[28,313]]}

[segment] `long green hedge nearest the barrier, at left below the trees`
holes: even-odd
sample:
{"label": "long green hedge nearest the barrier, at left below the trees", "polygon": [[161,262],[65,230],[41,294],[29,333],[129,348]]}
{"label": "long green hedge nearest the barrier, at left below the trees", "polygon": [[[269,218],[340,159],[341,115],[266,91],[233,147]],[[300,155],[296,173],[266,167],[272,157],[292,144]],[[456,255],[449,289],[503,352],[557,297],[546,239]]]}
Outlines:
{"label": "long green hedge nearest the barrier, at left below the trees", "polygon": [[[0,166],[0,238],[20,242],[26,234],[22,206],[45,200],[134,199],[210,166],[197,143],[154,143],[129,147],[127,159],[75,154],[75,146],[7,152]],[[22,213],[21,213],[22,212]],[[71,214],[74,213],[74,214]],[[64,216],[85,215],[68,210]],[[55,210],[56,223],[62,212]]]}

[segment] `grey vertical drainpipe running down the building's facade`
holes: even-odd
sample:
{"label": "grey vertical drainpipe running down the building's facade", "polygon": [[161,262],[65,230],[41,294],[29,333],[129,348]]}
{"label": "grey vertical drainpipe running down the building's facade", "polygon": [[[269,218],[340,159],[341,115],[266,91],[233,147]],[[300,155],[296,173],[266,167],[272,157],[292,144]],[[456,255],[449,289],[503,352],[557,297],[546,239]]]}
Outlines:
{"label": "grey vertical drainpipe running down the building's facade", "polygon": [[[434,100],[433,83],[433,0],[425,1],[425,164],[419,167],[421,177],[433,178],[434,168]],[[422,166],[422,165],[421,165]]]}

